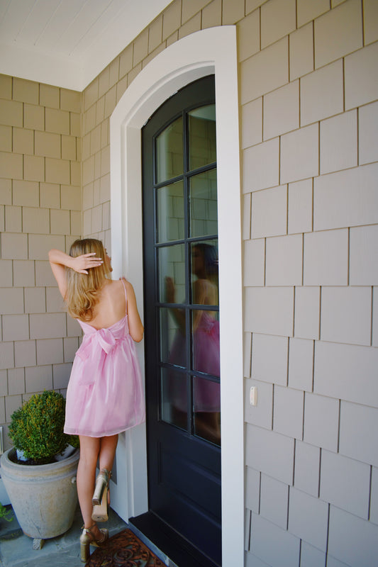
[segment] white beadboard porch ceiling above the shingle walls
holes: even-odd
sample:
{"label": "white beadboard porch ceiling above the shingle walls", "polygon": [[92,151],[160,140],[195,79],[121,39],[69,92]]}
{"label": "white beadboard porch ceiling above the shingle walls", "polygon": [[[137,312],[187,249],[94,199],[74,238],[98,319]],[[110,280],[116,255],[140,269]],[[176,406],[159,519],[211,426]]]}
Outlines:
{"label": "white beadboard porch ceiling above the shingle walls", "polygon": [[82,91],[172,0],[0,0],[0,73]]}

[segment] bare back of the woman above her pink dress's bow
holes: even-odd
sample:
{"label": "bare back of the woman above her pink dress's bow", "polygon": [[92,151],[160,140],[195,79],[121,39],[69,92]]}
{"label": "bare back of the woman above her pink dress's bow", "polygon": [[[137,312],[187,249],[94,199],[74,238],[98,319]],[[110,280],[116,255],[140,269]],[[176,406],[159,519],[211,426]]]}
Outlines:
{"label": "bare back of the woman above her pink dress's bow", "polygon": [[111,327],[126,315],[125,288],[122,281],[106,280],[94,306],[94,318],[86,321],[95,329]]}

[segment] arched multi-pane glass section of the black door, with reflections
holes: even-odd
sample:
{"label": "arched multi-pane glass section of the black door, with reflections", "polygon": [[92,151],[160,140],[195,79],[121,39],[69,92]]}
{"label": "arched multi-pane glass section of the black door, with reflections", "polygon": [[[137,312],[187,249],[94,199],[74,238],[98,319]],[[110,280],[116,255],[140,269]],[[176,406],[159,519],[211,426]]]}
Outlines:
{"label": "arched multi-pane glass section of the black door, with reflections", "polygon": [[155,147],[161,417],[220,445],[215,105],[174,120]]}

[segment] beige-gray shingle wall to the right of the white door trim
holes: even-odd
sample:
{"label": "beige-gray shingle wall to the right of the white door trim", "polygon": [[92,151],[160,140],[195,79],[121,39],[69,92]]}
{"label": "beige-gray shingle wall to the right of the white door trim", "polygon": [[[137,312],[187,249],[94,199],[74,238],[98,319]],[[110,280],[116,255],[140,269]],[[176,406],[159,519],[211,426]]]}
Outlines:
{"label": "beige-gray shingle wall to the right of the white door trim", "polygon": [[238,30],[245,566],[375,567],[378,4],[246,0]]}

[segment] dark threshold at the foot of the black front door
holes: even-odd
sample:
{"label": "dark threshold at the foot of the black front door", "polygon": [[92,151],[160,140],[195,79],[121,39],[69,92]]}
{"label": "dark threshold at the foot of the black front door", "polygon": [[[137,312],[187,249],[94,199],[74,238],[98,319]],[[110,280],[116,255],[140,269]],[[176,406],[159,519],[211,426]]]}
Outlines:
{"label": "dark threshold at the foot of the black front door", "polygon": [[153,512],[130,518],[128,524],[135,535],[168,567],[220,567]]}

